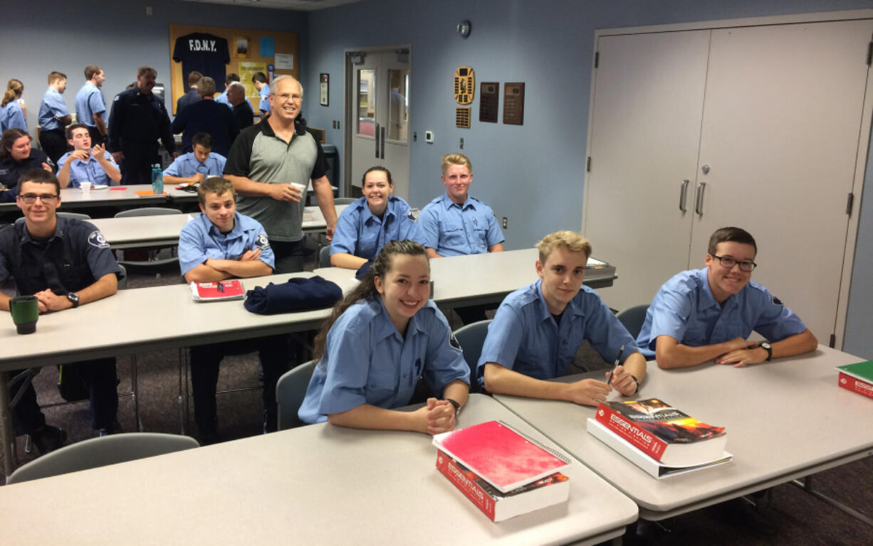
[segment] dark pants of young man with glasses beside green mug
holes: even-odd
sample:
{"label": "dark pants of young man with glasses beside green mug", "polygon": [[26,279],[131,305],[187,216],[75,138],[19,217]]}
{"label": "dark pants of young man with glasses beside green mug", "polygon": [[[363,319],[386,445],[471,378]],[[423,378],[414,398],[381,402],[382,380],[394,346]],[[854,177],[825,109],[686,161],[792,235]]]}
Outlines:
{"label": "dark pants of young man with glasses beside green mug", "polygon": [[[88,388],[91,427],[111,427],[118,417],[118,375],[115,372],[115,358],[100,358],[75,365]],[[22,370],[10,372],[10,378],[15,377],[18,372]],[[13,388],[11,394],[14,396],[15,392],[17,388]],[[45,425],[45,415],[39,409],[37,392],[32,385],[27,386],[12,410],[12,425],[16,436],[34,433]]]}

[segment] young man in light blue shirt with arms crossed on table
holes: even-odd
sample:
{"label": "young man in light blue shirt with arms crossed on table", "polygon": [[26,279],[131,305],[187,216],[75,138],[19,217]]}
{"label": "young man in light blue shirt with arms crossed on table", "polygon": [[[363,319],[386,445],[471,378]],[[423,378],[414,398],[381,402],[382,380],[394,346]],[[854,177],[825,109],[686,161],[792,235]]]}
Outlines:
{"label": "young man in light blue shirt with arms crossed on table", "polygon": [[[263,226],[237,212],[237,193],[223,178],[208,178],[197,188],[200,215],[182,228],[179,264],[189,283],[270,275],[274,258]],[[276,382],[291,360],[289,338],[270,336],[191,347],[194,419],[200,439],[217,438],[216,386],[226,354],[258,351],[264,367],[264,432],[276,430]]]}

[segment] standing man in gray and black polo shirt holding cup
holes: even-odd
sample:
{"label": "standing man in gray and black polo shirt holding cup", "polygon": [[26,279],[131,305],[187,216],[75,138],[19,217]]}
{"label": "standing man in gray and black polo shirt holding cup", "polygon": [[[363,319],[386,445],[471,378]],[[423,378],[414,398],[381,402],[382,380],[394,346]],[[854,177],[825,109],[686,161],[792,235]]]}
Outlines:
{"label": "standing man in gray and black polo shirt holding cup", "polygon": [[327,240],[333,239],[336,209],[325,175],[327,163],[319,141],[300,117],[303,87],[291,76],[270,84],[271,113],[244,129],[227,156],[224,176],[233,182],[240,214],[264,226],[273,254],[275,273],[303,270],[303,208],[306,188],[313,181],[321,213],[327,221]]}

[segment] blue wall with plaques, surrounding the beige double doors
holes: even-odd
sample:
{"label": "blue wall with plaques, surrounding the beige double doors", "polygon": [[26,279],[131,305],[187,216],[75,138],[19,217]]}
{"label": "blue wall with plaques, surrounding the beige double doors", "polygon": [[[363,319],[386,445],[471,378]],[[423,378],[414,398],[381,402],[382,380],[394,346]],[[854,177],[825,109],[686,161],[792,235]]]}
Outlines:
{"label": "blue wall with plaques, surrounding the beige double doors", "polygon": [[[464,154],[476,174],[471,193],[489,203],[498,217],[509,217],[505,246],[519,249],[556,229],[581,227],[596,29],[870,7],[870,0],[384,0],[318,10],[309,17],[311,53],[304,83],[315,90],[319,72],[329,72],[331,105],[319,106],[318,93],[307,92],[306,115],[320,127],[343,119],[346,49],[411,44],[410,131],[419,139],[410,144],[409,201],[422,206],[443,191],[440,156],[457,151],[463,137]],[[472,22],[467,39],[455,31],[463,19]],[[450,80],[459,65],[471,65],[478,82],[525,82],[525,125],[479,123],[477,99],[472,127],[455,128]],[[327,141],[340,148],[340,158],[344,129],[327,130]],[[435,144],[423,142],[425,130],[436,133]],[[873,358],[871,178],[868,174],[865,181],[868,195],[844,345],[865,358]]]}

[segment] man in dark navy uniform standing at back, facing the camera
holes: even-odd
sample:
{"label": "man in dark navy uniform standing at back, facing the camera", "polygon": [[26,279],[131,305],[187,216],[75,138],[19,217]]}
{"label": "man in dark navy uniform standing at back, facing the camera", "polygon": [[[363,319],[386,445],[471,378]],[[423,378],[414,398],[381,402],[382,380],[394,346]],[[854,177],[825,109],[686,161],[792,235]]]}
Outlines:
{"label": "man in dark navy uniform standing at back, facing the camera", "polygon": [[136,71],[136,86],[115,95],[109,115],[109,151],[121,167],[121,184],[151,184],[152,165],[160,163],[158,138],[173,159],[175,141],[169,116],[152,94],[158,72],[151,66]]}

